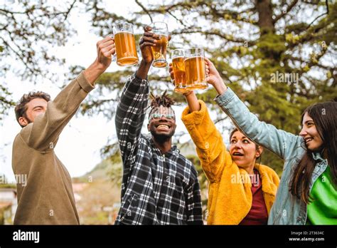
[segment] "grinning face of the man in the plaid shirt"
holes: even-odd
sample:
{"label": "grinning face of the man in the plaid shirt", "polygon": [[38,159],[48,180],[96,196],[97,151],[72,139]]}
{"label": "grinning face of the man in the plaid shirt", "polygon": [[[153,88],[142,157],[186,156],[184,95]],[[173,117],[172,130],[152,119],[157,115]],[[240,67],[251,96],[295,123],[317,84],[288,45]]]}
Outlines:
{"label": "grinning face of the man in the plaid shirt", "polygon": [[171,138],[176,130],[176,118],[172,108],[161,105],[151,110],[147,129],[154,138]]}

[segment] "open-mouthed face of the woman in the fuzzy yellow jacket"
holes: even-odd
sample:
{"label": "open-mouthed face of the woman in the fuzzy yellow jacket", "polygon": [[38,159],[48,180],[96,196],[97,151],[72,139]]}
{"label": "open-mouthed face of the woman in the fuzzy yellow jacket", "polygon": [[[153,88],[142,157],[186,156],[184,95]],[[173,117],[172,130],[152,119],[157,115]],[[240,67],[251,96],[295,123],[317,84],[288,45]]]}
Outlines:
{"label": "open-mouthed face of the woman in the fuzzy yellow jacket", "polygon": [[237,166],[243,169],[252,168],[257,157],[260,157],[262,147],[258,147],[239,130],[230,138],[230,155]]}

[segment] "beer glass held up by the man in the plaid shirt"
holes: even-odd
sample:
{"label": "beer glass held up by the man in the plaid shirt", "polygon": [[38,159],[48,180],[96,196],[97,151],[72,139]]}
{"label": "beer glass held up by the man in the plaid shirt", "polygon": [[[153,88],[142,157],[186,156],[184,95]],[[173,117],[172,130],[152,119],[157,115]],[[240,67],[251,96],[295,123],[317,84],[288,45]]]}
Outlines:
{"label": "beer glass held up by the man in the plaid shirt", "polygon": [[154,67],[166,67],[166,48],[169,43],[169,29],[167,24],[161,21],[156,21],[151,24],[152,33],[159,35],[159,40],[156,41],[156,46],[151,46],[152,56],[154,56]]}

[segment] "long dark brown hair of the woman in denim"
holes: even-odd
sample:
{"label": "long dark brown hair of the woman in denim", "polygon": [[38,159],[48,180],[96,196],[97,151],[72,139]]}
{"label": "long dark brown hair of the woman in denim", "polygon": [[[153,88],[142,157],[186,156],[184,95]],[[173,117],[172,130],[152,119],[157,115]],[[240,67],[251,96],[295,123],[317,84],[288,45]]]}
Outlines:
{"label": "long dark brown hair of the woman in denim", "polygon": [[[337,185],[337,103],[326,102],[310,105],[304,110],[301,116],[301,123],[305,113],[308,113],[312,120],[314,120],[317,132],[323,140],[321,154],[327,154],[333,182]],[[309,196],[309,186],[315,166],[316,161],[314,160],[312,151],[306,150],[306,153],[294,170],[289,185],[291,194],[303,200],[306,204],[309,204],[312,200]]]}

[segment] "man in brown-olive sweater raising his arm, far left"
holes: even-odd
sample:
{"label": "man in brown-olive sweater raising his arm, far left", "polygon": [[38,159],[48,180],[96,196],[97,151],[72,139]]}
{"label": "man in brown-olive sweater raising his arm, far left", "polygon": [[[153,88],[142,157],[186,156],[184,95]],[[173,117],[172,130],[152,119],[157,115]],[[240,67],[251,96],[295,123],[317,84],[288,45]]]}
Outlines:
{"label": "man in brown-olive sweater raising his arm, far left", "polygon": [[[97,58],[85,71],[50,100],[41,91],[23,95],[15,108],[21,132],[13,144],[12,167],[18,208],[14,224],[80,224],[71,177],[54,153],[58,137],[114,54],[114,41],[97,42]],[[70,148],[71,149],[71,148]]]}

